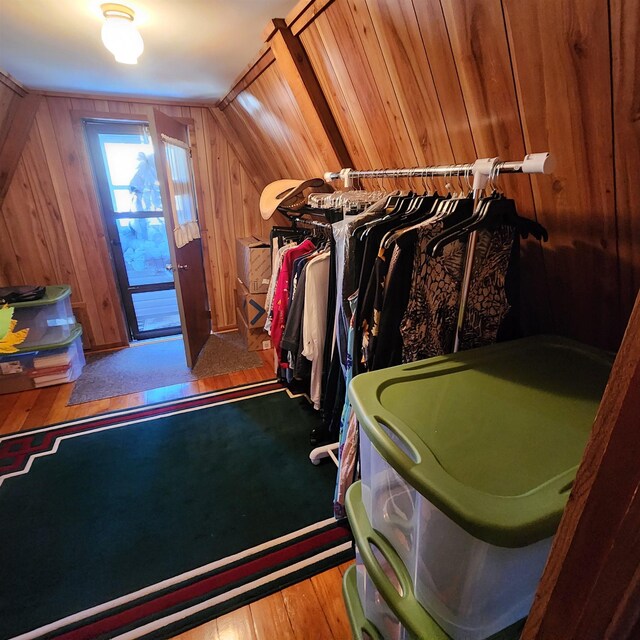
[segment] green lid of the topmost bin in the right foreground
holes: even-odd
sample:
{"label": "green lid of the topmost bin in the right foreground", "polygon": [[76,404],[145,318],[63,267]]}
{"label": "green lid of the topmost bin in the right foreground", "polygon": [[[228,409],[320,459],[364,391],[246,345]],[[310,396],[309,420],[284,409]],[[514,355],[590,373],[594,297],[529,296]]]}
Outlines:
{"label": "green lid of the topmost bin in the right foreground", "polygon": [[536,336],[356,376],[383,458],[476,538],[522,547],[560,522],[613,356]]}

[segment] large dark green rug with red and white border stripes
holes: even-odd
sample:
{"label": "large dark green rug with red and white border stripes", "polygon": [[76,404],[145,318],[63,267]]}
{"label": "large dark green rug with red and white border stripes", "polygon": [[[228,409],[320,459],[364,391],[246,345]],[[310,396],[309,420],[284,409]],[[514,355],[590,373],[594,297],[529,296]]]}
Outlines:
{"label": "large dark green rug with red and white border stripes", "polygon": [[275,382],[0,438],[0,638],[168,638],[351,557]]}

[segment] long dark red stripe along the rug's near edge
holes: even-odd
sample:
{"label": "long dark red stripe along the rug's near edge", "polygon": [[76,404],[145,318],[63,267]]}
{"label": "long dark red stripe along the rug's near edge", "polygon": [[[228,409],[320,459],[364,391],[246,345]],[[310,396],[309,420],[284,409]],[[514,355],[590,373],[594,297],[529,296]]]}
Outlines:
{"label": "long dark red stripe along the rug's near edge", "polygon": [[134,606],[126,611],[56,636],[56,640],[92,640],[102,634],[115,632],[118,629],[134,624],[136,621],[144,620],[144,618],[161,613],[176,605],[188,602],[199,596],[204,596],[207,593],[211,593],[225,586],[232,585],[261,571],[283,563],[288,563],[289,565],[294,564],[293,561],[299,556],[308,554],[314,549],[331,543],[337,543],[341,539],[344,539],[344,541],[351,539],[351,533],[344,525],[323,531],[311,538],[294,543],[255,560],[250,560],[233,569],[222,571],[216,575],[204,578],[199,582],[178,588],[154,600]]}

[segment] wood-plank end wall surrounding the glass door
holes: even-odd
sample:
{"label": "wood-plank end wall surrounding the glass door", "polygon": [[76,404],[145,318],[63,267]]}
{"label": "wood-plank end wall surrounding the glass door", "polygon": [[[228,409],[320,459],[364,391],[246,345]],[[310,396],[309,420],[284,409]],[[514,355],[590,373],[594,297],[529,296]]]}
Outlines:
{"label": "wood-plank end wall surrounding the glass door", "polygon": [[[235,238],[268,232],[259,193],[206,107],[46,97],[1,208],[0,285],[69,283],[85,344],[127,343],[79,113],[150,117],[154,106],[193,121],[207,287],[215,328],[235,325]],[[247,212],[251,212],[249,215]]]}

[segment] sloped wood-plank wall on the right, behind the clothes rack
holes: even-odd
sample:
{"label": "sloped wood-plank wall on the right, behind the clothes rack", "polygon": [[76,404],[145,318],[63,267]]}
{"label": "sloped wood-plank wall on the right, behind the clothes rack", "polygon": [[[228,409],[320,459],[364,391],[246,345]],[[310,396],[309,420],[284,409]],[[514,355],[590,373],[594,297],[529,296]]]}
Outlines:
{"label": "sloped wood-plank wall on the right, behind the clothes rack", "polygon": [[[503,179],[550,235],[523,246],[527,327],[616,348],[640,286],[636,4],[317,0],[287,24],[357,168],[552,151],[553,176]],[[223,113],[263,182],[329,168],[277,64]]]}

